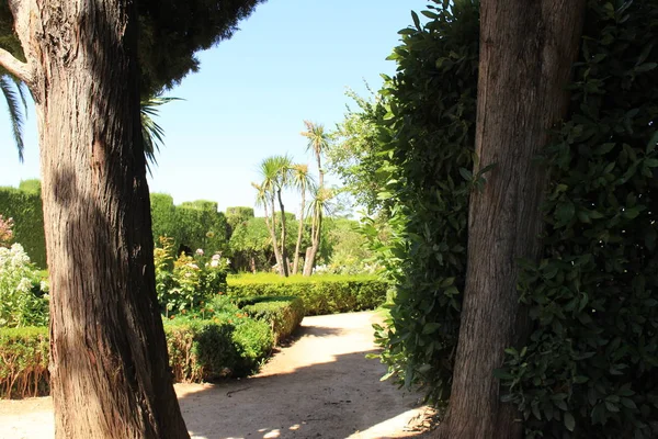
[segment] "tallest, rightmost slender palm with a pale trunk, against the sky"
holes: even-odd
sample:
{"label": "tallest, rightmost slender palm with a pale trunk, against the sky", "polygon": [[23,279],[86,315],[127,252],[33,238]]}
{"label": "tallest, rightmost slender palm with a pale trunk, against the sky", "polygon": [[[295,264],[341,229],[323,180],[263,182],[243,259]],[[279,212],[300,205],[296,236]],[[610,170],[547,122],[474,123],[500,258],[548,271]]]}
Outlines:
{"label": "tallest, rightmost slender palm with a pale trunk, against the sky", "polygon": [[328,200],[328,192],[325,191],[325,171],[322,170],[321,158],[322,153],[329,146],[329,134],[325,132],[325,125],[322,124],[304,121],[304,125],[306,125],[306,131],[302,132],[302,135],[308,138],[307,150],[311,150],[315,154],[319,176],[319,185],[314,200],[313,210],[311,247],[306,249],[306,260],[304,261],[304,275],[310,275],[313,273],[313,267],[315,266],[315,257],[320,247],[320,227],[324,214],[324,210],[318,210],[316,204],[318,202],[322,204]]}

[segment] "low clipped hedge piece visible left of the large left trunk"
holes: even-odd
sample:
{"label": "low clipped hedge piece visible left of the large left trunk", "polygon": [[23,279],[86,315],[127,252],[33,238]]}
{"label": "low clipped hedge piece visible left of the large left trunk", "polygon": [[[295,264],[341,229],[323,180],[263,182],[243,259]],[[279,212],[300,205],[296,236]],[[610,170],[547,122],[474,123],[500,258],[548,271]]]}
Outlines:
{"label": "low clipped hedge piece visible left of the large left trunk", "polygon": [[0,328],[0,398],[47,395],[48,328]]}

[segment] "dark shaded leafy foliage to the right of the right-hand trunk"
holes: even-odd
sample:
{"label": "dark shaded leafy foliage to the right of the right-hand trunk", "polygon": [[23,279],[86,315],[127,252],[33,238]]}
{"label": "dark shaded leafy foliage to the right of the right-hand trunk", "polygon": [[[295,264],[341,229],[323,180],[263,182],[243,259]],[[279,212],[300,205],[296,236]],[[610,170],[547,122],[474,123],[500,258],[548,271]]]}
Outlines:
{"label": "dark shaded leafy foliage to the right of the right-hand trunk", "polygon": [[534,331],[498,371],[527,437],[658,436],[658,3],[590,1],[569,117],[546,150]]}

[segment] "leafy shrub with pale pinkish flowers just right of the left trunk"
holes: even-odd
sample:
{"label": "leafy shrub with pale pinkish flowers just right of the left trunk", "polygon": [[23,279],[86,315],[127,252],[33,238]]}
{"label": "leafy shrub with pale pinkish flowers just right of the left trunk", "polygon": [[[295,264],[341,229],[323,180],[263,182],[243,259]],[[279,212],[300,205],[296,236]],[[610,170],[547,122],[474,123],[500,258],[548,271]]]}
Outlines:
{"label": "leafy shrub with pale pinkish flowers just right of the left trunk", "polygon": [[156,291],[166,316],[189,314],[204,301],[226,291],[226,271],[230,263],[220,255],[206,257],[203,249],[194,256],[175,256],[173,240],[161,237],[154,251]]}

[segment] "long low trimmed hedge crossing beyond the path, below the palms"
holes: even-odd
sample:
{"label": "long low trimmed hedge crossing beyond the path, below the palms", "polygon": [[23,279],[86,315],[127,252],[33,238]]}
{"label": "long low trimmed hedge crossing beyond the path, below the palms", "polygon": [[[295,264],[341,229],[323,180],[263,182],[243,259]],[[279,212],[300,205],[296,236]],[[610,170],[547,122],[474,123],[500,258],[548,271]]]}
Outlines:
{"label": "long low trimmed hedge crossing beyond the path, below the palms", "polygon": [[291,296],[304,302],[306,315],[373,309],[386,301],[388,283],[374,277],[241,275],[227,279],[234,297]]}

